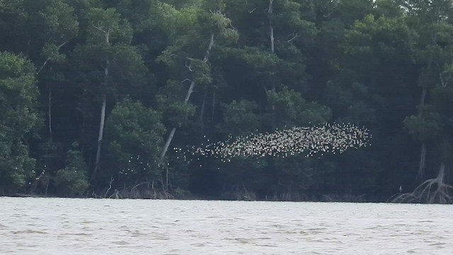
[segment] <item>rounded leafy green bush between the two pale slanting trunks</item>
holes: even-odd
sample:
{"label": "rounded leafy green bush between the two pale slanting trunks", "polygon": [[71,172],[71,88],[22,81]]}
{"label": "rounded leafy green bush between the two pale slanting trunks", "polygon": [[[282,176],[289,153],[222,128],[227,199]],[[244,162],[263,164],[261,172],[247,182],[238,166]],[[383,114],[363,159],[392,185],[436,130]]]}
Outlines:
{"label": "rounded leafy green bush between the two pale slanting trunks", "polygon": [[161,118],[161,113],[128,98],[116,104],[105,125],[106,178],[118,176],[124,184],[159,179],[159,152],[166,131]]}

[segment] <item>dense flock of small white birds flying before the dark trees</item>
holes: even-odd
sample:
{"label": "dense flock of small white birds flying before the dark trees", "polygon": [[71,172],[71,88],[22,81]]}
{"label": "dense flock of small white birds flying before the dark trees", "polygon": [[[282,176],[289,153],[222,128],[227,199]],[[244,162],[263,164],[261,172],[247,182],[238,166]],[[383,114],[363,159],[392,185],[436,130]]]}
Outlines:
{"label": "dense flock of small white birds flying before the dark trees", "polygon": [[[229,162],[232,158],[261,158],[261,157],[290,157],[295,154],[305,154],[305,157],[314,154],[344,152],[346,149],[366,147],[371,145],[369,130],[352,124],[325,124],[310,128],[290,128],[275,130],[270,133],[251,134],[246,137],[229,137],[225,142],[215,142],[200,147],[192,147],[188,152],[180,148],[173,148],[176,153],[183,154],[185,161],[187,154],[200,157],[215,157],[222,162]],[[209,142],[209,140],[208,140]]]}

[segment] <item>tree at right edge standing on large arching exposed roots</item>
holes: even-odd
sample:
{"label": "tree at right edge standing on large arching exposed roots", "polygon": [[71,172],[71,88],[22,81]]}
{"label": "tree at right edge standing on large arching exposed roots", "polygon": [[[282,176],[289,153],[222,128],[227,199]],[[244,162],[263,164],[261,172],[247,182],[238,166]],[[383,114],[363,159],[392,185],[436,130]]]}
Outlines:
{"label": "tree at right edge standing on large arching exposed roots", "polygon": [[421,87],[418,113],[409,115],[404,124],[421,143],[417,178],[425,180],[430,169],[437,168],[437,177],[423,181],[411,193],[403,193],[394,202],[451,203],[452,186],[445,178],[451,169],[452,93],[450,69],[453,47],[450,43],[453,25],[452,1],[408,1],[411,25],[420,35],[415,60],[420,65],[417,84]]}

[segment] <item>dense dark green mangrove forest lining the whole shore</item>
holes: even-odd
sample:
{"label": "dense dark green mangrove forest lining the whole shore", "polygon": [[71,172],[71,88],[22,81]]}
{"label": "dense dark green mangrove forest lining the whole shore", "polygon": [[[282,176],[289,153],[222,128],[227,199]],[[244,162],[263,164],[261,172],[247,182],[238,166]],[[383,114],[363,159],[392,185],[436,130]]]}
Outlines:
{"label": "dense dark green mangrove forest lining the whole shore", "polygon": [[[451,0],[0,1],[0,195],[385,201],[428,180],[451,203],[452,17]],[[372,146],[297,152],[321,127]],[[200,157],[235,137],[271,149]]]}

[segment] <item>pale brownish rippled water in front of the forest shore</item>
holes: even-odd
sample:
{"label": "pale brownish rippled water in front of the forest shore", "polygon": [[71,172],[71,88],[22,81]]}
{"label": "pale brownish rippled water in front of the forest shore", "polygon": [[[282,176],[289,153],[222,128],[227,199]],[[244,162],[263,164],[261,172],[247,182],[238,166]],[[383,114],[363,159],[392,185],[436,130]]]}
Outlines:
{"label": "pale brownish rippled water in front of the forest shore", "polygon": [[453,254],[453,207],[0,198],[0,254]]}

